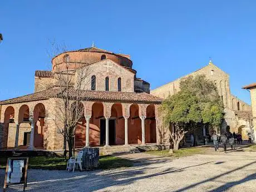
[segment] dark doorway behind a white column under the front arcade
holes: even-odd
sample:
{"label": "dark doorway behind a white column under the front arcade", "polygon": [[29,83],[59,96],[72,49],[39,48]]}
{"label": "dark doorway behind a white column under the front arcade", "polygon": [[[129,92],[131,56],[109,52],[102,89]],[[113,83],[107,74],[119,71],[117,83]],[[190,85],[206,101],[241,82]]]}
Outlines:
{"label": "dark doorway behind a white column under the front arcade", "polygon": [[[106,120],[100,120],[100,145],[106,144]],[[116,144],[116,120],[109,120],[109,145]]]}

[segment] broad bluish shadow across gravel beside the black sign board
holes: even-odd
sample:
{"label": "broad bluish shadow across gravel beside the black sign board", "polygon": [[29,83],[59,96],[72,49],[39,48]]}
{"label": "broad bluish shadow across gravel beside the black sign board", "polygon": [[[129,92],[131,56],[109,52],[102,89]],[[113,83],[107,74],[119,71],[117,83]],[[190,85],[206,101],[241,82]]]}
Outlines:
{"label": "broad bluish shadow across gravel beside the black sign board", "polygon": [[[187,166],[184,168],[165,168],[154,174],[146,174],[147,170],[156,169],[149,168],[145,165],[135,166],[129,169],[115,169],[115,170],[97,170],[88,172],[70,173],[67,171],[49,171],[49,170],[32,170],[28,171],[28,184],[26,191],[96,191],[102,190],[109,186],[125,186],[134,183],[135,181],[152,178],[155,176],[179,173],[185,169],[213,163],[213,161]],[[159,167],[157,167],[159,168]],[[38,178],[38,174],[41,176]],[[33,175],[37,175],[37,179],[33,180]],[[0,172],[1,176],[1,172]],[[47,178],[47,180],[45,179]],[[21,190],[20,185],[12,186],[11,190]]]}

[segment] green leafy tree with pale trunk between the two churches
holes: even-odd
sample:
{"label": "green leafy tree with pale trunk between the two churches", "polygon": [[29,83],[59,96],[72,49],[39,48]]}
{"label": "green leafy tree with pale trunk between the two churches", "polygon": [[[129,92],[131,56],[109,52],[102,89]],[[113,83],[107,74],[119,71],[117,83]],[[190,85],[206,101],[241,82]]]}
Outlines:
{"label": "green leafy tree with pale trunk between the two churches", "polygon": [[205,76],[189,76],[180,82],[180,91],[161,105],[164,123],[170,126],[174,150],[186,132],[194,134],[205,124],[218,127],[223,121],[223,104],[213,82]]}

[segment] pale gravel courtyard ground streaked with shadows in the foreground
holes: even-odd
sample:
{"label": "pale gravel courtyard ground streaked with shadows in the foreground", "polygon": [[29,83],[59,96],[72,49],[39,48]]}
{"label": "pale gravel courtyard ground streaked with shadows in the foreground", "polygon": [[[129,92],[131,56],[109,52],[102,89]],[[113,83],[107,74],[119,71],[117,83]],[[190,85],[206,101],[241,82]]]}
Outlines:
{"label": "pale gravel courtyard ground streaked with shadows in the foreground", "polygon": [[[139,161],[126,169],[68,173],[29,170],[26,191],[256,191],[256,152],[216,152],[168,159],[121,155]],[[0,170],[3,186],[4,170]],[[21,191],[12,186],[7,191]]]}

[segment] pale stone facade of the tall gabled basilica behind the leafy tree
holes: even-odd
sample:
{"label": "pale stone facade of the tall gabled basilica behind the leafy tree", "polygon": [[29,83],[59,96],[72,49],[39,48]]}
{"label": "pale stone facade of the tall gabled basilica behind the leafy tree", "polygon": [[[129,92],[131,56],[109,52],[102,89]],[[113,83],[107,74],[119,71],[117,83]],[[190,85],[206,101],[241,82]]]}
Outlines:
{"label": "pale stone facade of the tall gabled basilica behind the leafy tree", "polygon": [[[213,62],[209,62],[209,65],[200,68],[199,70],[190,73],[189,75],[186,75],[184,77],[188,76],[196,76],[196,75],[205,75],[208,80],[212,81],[214,85],[217,87],[219,95],[221,99],[223,100],[223,105],[225,107],[225,120],[222,125],[222,132],[226,132],[227,125],[230,126],[230,131],[238,131],[238,128],[243,126],[245,129],[249,129],[249,124],[246,124],[245,122],[249,119],[246,117],[245,119],[242,119],[244,121],[238,121],[238,117],[235,114],[235,111],[252,111],[252,107],[248,104],[246,104],[244,101],[238,99],[238,97],[232,95],[230,91],[230,85],[229,85],[229,75],[222,71],[219,67],[215,66]],[[160,86],[154,90],[151,90],[150,93],[154,96],[161,97],[165,99],[169,95],[174,95],[176,92],[178,92],[180,81],[182,78],[180,77],[175,81],[169,82],[163,86]],[[244,139],[248,139],[247,135],[243,135]]]}

